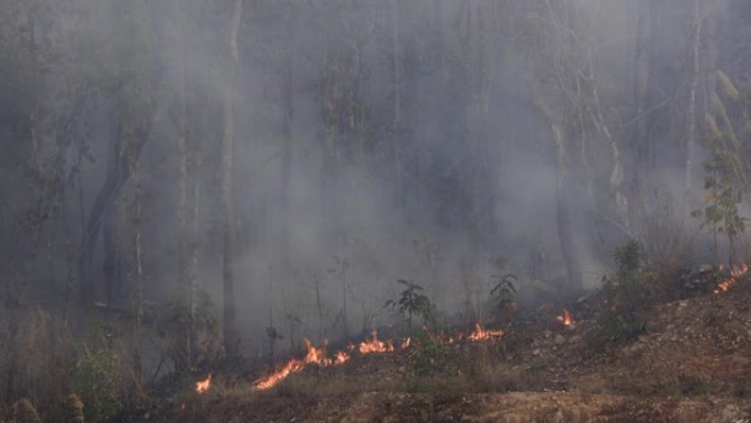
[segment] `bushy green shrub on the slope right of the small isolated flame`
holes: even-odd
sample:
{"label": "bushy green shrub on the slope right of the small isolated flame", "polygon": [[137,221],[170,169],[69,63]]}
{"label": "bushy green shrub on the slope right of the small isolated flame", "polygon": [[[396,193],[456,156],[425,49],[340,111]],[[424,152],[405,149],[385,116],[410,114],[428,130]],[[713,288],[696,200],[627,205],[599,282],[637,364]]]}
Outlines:
{"label": "bushy green shrub on the slope right of the small isolated flame", "polygon": [[659,290],[654,275],[643,265],[639,243],[617,247],[613,259],[615,274],[603,278],[598,312],[602,331],[597,335],[610,339],[634,338],[644,330],[644,313],[659,298]]}

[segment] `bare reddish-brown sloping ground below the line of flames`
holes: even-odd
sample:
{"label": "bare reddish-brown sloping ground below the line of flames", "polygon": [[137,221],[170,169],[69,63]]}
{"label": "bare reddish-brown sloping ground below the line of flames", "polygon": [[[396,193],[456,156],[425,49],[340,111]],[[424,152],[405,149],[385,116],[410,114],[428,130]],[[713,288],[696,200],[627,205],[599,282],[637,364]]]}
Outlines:
{"label": "bare reddish-brown sloping ground below the line of flames", "polygon": [[[217,374],[180,422],[751,422],[751,281],[654,307],[598,342],[537,312],[500,339],[309,366],[265,391]],[[437,358],[437,359],[436,359]],[[421,361],[422,359],[422,361]],[[418,371],[416,366],[423,370]]]}

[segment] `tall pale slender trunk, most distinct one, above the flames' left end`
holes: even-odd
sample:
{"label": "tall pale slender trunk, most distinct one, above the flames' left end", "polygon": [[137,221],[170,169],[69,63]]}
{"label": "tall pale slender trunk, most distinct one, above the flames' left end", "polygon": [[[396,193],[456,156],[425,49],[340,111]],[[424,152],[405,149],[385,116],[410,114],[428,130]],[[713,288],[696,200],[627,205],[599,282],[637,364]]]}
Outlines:
{"label": "tall pale slender trunk, most distinct one, above the flames' left end", "polygon": [[235,272],[234,272],[234,204],[233,204],[233,152],[235,148],[235,79],[239,67],[237,35],[243,14],[243,0],[233,2],[232,18],[228,26],[229,71],[226,84],[222,87],[224,115],[224,136],[222,141],[222,209],[224,212],[224,253],[223,253],[223,325],[224,348],[227,357],[239,355],[239,336],[236,327],[235,309]]}

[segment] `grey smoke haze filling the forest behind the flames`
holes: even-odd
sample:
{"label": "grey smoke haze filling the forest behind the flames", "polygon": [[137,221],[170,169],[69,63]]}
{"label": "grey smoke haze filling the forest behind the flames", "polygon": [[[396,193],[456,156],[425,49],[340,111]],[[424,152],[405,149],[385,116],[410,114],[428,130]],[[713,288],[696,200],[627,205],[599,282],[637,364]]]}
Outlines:
{"label": "grey smoke haze filling the forest behind the flames", "polygon": [[748,2],[246,0],[234,79],[233,4],[1,0],[3,308],[128,309],[136,286],[176,301],[189,248],[221,310],[227,92],[249,354],[268,326],[397,322],[397,279],[463,324],[489,316],[493,275],[536,307],[596,287],[629,238],[695,236],[686,263],[711,257],[688,213],[710,122],[728,133],[720,113],[748,104]]}

